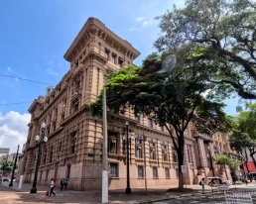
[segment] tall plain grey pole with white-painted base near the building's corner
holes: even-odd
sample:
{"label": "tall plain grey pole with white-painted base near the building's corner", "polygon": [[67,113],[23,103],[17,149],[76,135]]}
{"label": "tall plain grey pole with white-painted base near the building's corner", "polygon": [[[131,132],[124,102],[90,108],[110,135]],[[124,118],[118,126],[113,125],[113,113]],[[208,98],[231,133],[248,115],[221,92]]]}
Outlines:
{"label": "tall plain grey pole with white-painted base near the building's corner", "polygon": [[108,203],[106,89],[103,89],[102,203]]}

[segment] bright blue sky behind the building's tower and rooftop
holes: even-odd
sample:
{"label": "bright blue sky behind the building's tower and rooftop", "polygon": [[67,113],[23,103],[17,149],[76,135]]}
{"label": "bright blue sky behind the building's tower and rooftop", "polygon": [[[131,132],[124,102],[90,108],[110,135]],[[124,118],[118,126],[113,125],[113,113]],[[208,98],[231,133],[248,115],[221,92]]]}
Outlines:
{"label": "bright blue sky behind the building's tower and rooftop", "polygon": [[[161,3],[160,3],[161,2]],[[165,2],[165,3],[164,3]],[[88,17],[102,21],[122,39],[141,51],[135,60],[155,51],[153,43],[160,30],[154,18],[172,9],[172,5],[184,6],[184,1],[159,0],[4,0],[0,7],[0,74],[57,84],[69,64],[64,60],[68,49]],[[29,119],[26,114],[30,103],[1,105],[5,103],[32,102],[45,95],[45,84],[5,78],[0,76],[0,147],[1,141],[10,135],[7,131],[12,115]],[[225,111],[235,113],[237,99],[231,99]],[[7,120],[7,115],[9,119]],[[6,125],[5,129],[3,126]],[[10,126],[10,125],[9,125]],[[1,132],[2,127],[2,132]],[[16,131],[13,138],[20,134]],[[21,128],[22,129],[22,128]],[[4,130],[4,131],[3,131]],[[23,130],[23,141],[27,128]],[[3,134],[4,133],[4,134]],[[1,138],[2,137],[2,138]],[[17,142],[18,143],[18,142]],[[13,146],[15,146],[13,144]],[[14,149],[14,148],[12,148]]]}

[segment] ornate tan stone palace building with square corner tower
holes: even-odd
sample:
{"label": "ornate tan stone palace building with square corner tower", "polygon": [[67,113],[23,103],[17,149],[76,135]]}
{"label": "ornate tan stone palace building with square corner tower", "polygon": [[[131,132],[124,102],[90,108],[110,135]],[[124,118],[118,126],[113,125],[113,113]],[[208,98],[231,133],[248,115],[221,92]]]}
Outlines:
{"label": "ornate tan stone palace building with square corner tower", "polygon": [[[29,108],[32,117],[27,146],[20,159],[25,182],[33,182],[39,152],[35,136],[41,135],[45,122],[48,142],[43,146],[38,183],[49,185],[52,177],[68,178],[69,189],[101,189],[102,119],[90,116],[88,104],[96,100],[110,72],[133,64],[139,54],[98,19],[87,20],[64,53],[70,69],[46,97],[39,96]],[[126,187],[126,122],[131,188],[144,187],[145,177],[148,186],[178,185],[178,156],[167,130],[151,118],[127,111],[107,125],[109,189]],[[229,171],[225,174],[209,162],[221,148],[230,152],[227,136],[200,135],[190,125],[185,145],[187,184],[211,176],[212,167],[215,175],[230,179]]]}

